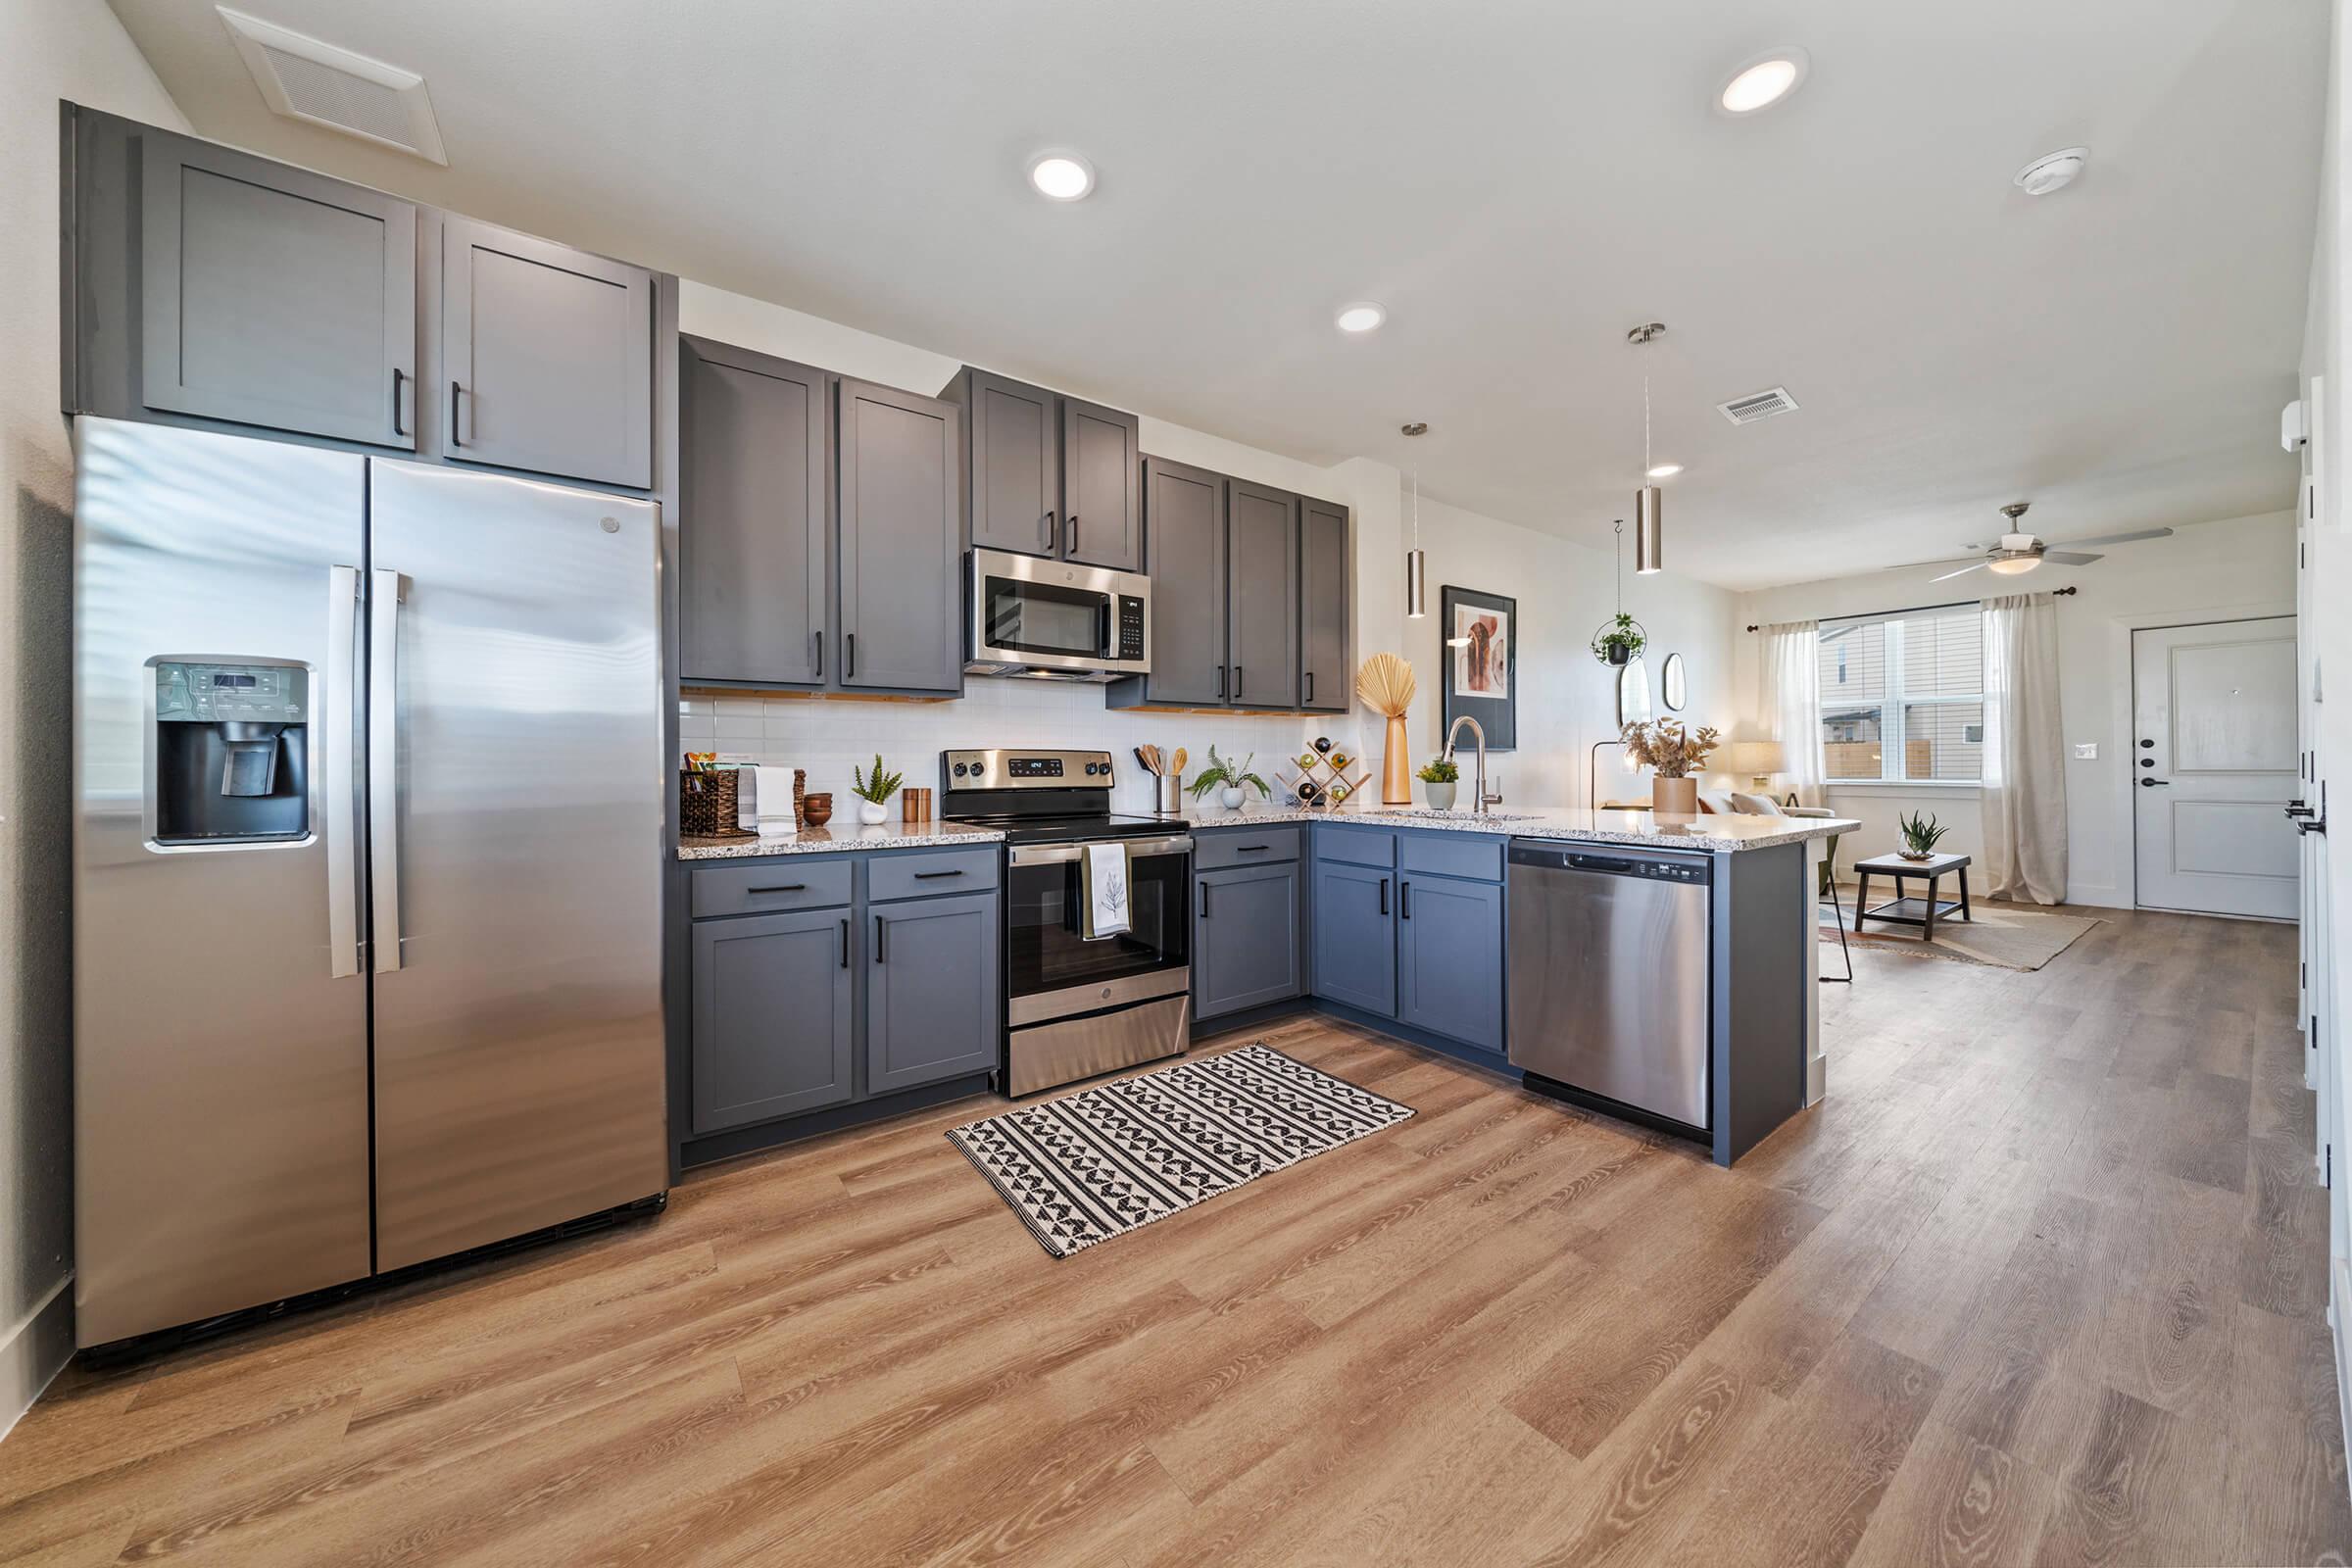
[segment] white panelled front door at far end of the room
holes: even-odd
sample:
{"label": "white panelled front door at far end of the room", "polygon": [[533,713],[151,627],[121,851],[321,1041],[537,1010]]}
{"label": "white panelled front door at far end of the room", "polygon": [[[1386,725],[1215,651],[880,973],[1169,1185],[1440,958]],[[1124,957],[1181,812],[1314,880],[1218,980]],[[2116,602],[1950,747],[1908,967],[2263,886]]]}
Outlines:
{"label": "white panelled front door at far end of the room", "polygon": [[2293,919],[2296,618],[2131,635],[2140,907]]}

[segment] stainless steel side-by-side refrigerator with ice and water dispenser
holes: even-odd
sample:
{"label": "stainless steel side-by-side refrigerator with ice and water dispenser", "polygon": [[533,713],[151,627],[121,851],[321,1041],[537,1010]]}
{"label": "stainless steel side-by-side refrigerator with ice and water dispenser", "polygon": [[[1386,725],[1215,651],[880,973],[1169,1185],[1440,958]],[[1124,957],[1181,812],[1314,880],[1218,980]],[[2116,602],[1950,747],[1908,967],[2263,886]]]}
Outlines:
{"label": "stainless steel side-by-side refrigerator with ice and water dispenser", "polygon": [[659,508],[75,447],[80,1342],[656,1197]]}

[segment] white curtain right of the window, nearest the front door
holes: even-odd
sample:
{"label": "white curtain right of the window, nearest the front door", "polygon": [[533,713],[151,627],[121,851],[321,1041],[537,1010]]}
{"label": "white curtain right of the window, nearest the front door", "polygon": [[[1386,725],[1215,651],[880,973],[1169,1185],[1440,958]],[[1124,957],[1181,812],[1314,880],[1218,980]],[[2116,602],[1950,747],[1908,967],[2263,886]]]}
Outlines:
{"label": "white curtain right of the window, nearest the front door", "polygon": [[2065,903],[2058,599],[1985,599],[1985,879],[1994,898]]}

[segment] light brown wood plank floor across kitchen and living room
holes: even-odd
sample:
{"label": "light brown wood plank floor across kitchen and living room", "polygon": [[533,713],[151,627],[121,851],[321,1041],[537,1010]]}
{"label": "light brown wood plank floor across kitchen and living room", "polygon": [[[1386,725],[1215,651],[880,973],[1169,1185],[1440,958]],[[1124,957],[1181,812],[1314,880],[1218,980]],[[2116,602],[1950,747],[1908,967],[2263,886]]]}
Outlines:
{"label": "light brown wood plank floor across kitchen and living room", "polygon": [[1421,1114],[1063,1262],[941,1138],[985,1105],[844,1133],[71,1371],[0,1561],[2345,1561],[2293,957],[1856,952],[1736,1171],[1296,1023]]}

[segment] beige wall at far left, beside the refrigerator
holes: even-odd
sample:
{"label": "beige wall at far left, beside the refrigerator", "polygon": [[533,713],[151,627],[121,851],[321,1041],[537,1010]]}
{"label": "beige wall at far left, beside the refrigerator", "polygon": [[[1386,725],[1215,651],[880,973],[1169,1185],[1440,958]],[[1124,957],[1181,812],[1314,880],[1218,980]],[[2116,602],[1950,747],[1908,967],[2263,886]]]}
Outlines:
{"label": "beige wall at far left, beside the refrigerator", "polygon": [[73,449],[56,411],[59,99],[188,125],[103,0],[0,5],[0,1429],[73,1342]]}

